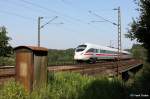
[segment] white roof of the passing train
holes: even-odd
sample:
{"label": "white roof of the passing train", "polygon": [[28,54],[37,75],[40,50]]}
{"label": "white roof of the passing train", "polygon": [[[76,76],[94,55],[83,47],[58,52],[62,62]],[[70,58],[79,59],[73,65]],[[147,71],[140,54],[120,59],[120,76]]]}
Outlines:
{"label": "white roof of the passing train", "polygon": [[[110,50],[110,51],[115,51],[115,52],[118,51],[117,48],[111,48],[111,47],[102,46],[102,45],[96,45],[96,44],[91,44],[91,43],[83,43],[83,45],[87,45],[89,47],[97,48],[97,49]],[[124,50],[122,50],[121,52],[122,53],[126,53],[126,54],[130,54],[130,52],[124,51]]]}

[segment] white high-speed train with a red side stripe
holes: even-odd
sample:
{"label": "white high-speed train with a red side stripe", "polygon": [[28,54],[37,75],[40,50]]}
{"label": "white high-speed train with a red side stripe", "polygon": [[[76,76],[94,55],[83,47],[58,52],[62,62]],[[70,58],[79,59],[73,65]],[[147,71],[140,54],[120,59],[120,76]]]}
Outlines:
{"label": "white high-speed train with a red side stripe", "polygon": [[[74,60],[77,62],[95,63],[97,60],[113,60],[118,58],[118,49],[90,43],[79,45],[75,49]],[[121,59],[132,58],[131,53],[121,51]]]}

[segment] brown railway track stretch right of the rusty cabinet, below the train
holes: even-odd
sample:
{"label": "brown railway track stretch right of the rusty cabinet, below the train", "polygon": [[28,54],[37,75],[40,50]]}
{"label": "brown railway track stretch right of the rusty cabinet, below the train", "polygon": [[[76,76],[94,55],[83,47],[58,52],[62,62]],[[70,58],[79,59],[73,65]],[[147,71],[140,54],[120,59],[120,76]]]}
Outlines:
{"label": "brown railway track stretch right of the rusty cabinet, below the train", "polygon": [[[51,66],[48,67],[50,72],[79,72],[81,74],[104,74],[104,75],[116,75],[117,74],[117,65],[118,70],[122,71],[128,69],[131,66],[136,64],[142,64],[138,60],[122,60],[115,62],[102,62],[96,64],[80,64],[80,65],[70,65],[70,66]],[[121,73],[121,72],[120,72]]]}

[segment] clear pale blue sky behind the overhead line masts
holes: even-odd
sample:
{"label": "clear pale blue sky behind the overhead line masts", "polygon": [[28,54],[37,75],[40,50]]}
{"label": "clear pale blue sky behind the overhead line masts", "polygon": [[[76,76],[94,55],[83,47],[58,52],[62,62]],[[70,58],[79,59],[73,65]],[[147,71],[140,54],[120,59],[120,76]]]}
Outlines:
{"label": "clear pale blue sky behind the overhead line masts", "polygon": [[[26,2],[27,1],[27,2]],[[31,4],[32,3],[32,4]],[[41,46],[53,49],[74,48],[84,42],[117,47],[117,27],[89,13],[89,10],[117,23],[121,7],[122,44],[131,48],[134,42],[124,37],[132,18],[138,17],[133,0],[0,0],[0,26],[6,26],[10,44],[37,45],[37,18],[44,17]],[[64,24],[60,24],[60,23]]]}

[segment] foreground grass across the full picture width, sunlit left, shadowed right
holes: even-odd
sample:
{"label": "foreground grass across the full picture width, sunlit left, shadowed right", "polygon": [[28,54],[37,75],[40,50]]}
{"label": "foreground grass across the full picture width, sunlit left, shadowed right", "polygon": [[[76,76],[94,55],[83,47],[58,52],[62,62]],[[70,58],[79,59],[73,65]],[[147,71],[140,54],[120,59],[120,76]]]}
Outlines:
{"label": "foreground grass across the full picture width, sunlit left, shadowed right", "polygon": [[102,76],[48,73],[48,84],[30,94],[12,80],[0,86],[0,99],[129,99],[130,95],[150,95],[150,64],[143,67],[127,83]]}

